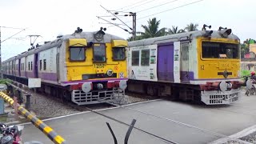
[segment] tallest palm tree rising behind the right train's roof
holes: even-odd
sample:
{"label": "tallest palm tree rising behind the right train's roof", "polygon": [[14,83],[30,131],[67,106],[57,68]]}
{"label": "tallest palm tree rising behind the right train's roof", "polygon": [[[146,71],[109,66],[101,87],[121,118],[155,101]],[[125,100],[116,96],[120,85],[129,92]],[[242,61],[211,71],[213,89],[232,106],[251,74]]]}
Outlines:
{"label": "tallest palm tree rising behind the right train's roof", "polygon": [[142,25],[142,28],[145,32],[138,32],[138,34],[141,34],[142,38],[154,38],[163,36],[166,34],[166,28],[158,30],[159,25],[160,20],[157,21],[157,18],[152,18],[148,21],[148,26]]}

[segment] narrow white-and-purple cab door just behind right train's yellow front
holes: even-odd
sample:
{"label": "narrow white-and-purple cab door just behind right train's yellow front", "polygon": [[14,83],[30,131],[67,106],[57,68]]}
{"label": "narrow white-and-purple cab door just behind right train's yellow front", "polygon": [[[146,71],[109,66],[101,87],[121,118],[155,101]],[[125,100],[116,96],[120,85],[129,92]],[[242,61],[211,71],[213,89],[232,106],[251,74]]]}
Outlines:
{"label": "narrow white-and-purple cab door just behind right train's yellow front", "polygon": [[189,43],[181,43],[181,80],[182,82],[190,81],[189,72]]}

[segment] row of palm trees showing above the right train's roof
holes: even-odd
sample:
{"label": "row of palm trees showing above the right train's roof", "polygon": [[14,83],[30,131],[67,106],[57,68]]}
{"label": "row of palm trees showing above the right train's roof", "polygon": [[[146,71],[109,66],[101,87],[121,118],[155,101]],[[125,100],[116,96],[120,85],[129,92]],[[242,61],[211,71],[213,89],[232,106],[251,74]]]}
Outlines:
{"label": "row of palm trees showing above the right train's roof", "polygon": [[[178,29],[178,26],[172,26],[171,28],[159,28],[160,20],[157,20],[157,18],[152,18],[149,21],[147,21],[148,25],[142,25],[142,28],[144,29],[144,32],[137,32],[136,34],[136,40],[145,39],[145,38],[155,38],[155,37],[161,37],[168,34],[178,34],[178,33],[184,33],[186,31],[195,31],[198,30],[198,24],[190,23],[186,25],[184,29]],[[128,41],[133,41],[134,39],[132,37],[127,39]]]}

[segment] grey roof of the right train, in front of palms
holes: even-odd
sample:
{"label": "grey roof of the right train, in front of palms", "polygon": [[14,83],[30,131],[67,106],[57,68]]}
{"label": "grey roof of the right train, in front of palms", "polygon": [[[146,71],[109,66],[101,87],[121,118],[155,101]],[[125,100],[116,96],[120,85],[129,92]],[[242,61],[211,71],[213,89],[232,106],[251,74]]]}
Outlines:
{"label": "grey roof of the right train, in front of palms", "polygon": [[[210,32],[210,30],[196,30],[196,31],[190,31],[190,32],[179,33],[179,34],[170,34],[170,35],[156,37],[156,38],[146,38],[138,41],[128,42],[128,46],[130,47],[146,46],[146,45],[154,45],[158,43],[186,41],[186,40],[190,40],[198,37],[203,37],[205,36],[206,32]],[[223,38],[223,37],[218,30],[212,30],[212,34],[210,35],[210,38]],[[232,40],[239,40],[238,36],[234,34],[230,34],[226,38],[229,38]]]}

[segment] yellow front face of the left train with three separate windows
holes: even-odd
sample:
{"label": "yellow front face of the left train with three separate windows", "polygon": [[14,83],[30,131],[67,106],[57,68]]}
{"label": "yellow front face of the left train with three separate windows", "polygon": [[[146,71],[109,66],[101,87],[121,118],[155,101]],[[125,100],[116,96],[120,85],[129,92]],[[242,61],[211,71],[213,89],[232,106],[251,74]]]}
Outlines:
{"label": "yellow front face of the left train with three separate windows", "polygon": [[78,105],[111,102],[125,95],[127,41],[98,33],[93,39],[67,42],[66,76],[71,100]]}

